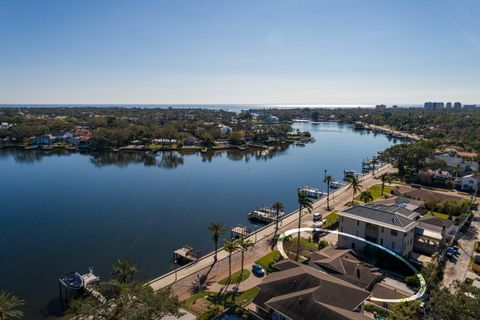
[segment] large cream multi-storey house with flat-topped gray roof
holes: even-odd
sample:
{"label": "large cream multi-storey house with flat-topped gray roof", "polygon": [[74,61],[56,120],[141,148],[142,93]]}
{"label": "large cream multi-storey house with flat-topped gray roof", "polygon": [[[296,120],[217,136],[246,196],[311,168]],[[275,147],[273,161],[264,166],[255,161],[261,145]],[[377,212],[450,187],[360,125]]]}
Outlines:
{"label": "large cream multi-storey house with flat-topped gray roof", "polygon": [[[339,212],[339,230],[408,256],[413,249],[414,229],[419,213],[398,205],[366,204]],[[367,244],[338,235],[340,248],[362,250]]]}

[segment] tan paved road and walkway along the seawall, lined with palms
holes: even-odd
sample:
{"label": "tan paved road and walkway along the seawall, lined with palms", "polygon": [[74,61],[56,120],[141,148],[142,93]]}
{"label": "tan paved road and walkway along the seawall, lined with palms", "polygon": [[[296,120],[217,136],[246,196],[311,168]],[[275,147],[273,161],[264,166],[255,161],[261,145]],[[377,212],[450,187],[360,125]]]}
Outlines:
{"label": "tan paved road and walkway along the seawall, lined with palms", "polygon": [[[384,172],[393,172],[394,169],[390,165],[382,167],[375,172],[379,175]],[[363,188],[369,188],[372,185],[378,184],[379,180],[374,178],[372,174],[367,174],[362,178]],[[332,192],[330,195],[330,207],[332,210],[338,210],[345,206],[345,204],[352,200],[352,191],[346,187]],[[328,214],[326,210],[326,198],[320,199],[313,204],[313,212],[321,212],[322,215]],[[311,216],[303,213],[305,218],[302,225],[311,225]],[[281,231],[296,227],[298,223],[298,210],[290,213],[282,221]],[[266,241],[271,238],[275,231],[275,225],[269,225],[263,229],[259,229],[256,234],[248,237],[249,240],[255,242],[252,250],[245,253],[245,266],[250,266],[255,260],[262,257],[271,251],[270,245]],[[228,253],[222,249],[218,251],[218,261],[214,263],[213,252],[202,257],[197,262],[187,265],[184,268],[177,269],[177,272],[169,272],[157,279],[154,279],[147,284],[152,286],[154,290],[164,288],[172,285],[175,293],[180,297],[187,297],[195,282],[197,275],[208,274],[208,281],[214,282],[226,277],[228,275]],[[232,272],[240,270],[240,254],[236,253],[232,256]]]}

